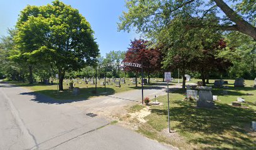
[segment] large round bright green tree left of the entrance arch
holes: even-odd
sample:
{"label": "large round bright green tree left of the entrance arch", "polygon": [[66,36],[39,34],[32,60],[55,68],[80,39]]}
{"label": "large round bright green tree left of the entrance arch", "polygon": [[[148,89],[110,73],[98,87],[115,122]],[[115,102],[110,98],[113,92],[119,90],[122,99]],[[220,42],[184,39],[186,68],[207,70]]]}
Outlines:
{"label": "large round bright green tree left of the entrance arch", "polygon": [[93,31],[77,9],[60,1],[27,6],[17,22],[20,56],[56,67],[60,91],[67,71],[95,65],[99,48]]}

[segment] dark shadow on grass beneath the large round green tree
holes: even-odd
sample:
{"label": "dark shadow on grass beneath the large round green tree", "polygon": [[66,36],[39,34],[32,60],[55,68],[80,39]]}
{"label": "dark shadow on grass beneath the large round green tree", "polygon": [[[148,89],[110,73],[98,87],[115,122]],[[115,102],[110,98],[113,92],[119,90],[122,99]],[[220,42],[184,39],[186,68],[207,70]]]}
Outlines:
{"label": "dark shadow on grass beneath the large round green tree", "polygon": [[106,93],[104,93],[104,88],[97,88],[97,94],[95,94],[95,88],[80,88],[80,94],[77,96],[73,94],[73,91],[56,91],[56,90],[41,90],[36,92],[29,93],[21,93],[22,95],[31,95],[34,96],[32,101],[36,101],[38,103],[46,103],[46,104],[65,104],[65,103],[73,103],[76,101],[86,101],[88,98],[92,96],[100,96],[100,95],[112,95],[115,91],[112,88],[106,88]]}

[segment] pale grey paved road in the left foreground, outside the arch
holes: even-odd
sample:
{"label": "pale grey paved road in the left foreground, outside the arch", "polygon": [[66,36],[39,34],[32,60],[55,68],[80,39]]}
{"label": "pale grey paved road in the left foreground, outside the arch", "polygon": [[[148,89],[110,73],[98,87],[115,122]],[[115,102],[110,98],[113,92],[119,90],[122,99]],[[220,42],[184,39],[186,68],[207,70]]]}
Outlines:
{"label": "pale grey paved road in the left foreground, outside the arch", "polygon": [[173,149],[53,101],[0,83],[0,149]]}

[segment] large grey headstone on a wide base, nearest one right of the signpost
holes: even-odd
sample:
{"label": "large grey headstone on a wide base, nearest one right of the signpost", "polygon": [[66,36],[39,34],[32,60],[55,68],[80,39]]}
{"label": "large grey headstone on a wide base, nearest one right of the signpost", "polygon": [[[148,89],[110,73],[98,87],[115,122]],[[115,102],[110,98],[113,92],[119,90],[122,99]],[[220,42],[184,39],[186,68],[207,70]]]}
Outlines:
{"label": "large grey headstone on a wide base, nearest one right of the signpost", "polygon": [[198,93],[199,99],[196,102],[196,106],[198,106],[198,108],[213,109],[215,107],[215,104],[213,102],[213,94],[211,93],[211,87],[200,86],[198,87],[198,89],[200,89],[200,91]]}

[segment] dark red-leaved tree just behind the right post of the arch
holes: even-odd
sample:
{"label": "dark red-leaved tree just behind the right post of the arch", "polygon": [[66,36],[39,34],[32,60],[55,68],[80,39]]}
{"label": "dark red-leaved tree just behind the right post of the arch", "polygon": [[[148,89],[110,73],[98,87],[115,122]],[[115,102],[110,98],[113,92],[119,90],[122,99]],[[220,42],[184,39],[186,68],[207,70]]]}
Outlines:
{"label": "dark red-leaved tree just behind the right post of the arch", "polygon": [[[152,49],[147,46],[147,42],[148,41],[144,41],[143,39],[134,39],[134,41],[131,41],[131,45],[125,54],[124,62],[142,64],[144,73],[146,73],[150,79],[150,74],[161,68],[159,67],[161,65],[161,54],[159,49]],[[131,66],[125,66],[124,70],[135,72],[136,78],[137,74],[141,72],[141,68],[134,68]]]}

